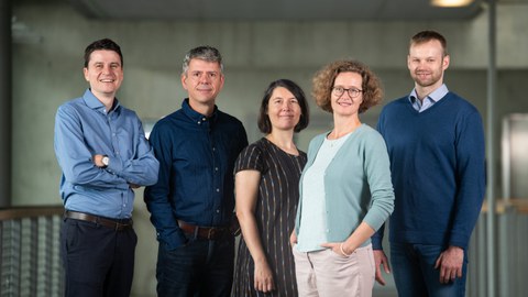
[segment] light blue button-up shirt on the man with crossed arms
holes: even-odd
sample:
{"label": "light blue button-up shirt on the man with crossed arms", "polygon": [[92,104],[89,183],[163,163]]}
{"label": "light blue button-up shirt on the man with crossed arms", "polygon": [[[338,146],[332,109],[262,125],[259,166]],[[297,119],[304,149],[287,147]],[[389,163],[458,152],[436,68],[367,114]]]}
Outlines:
{"label": "light blue button-up shirt on the man with crossed arms", "polygon": [[[63,169],[61,197],[68,210],[130,218],[134,200],[130,184],[157,180],[160,163],[135,112],[116,99],[107,113],[89,89],[58,108],[54,146]],[[94,164],[96,154],[109,156],[107,168]]]}

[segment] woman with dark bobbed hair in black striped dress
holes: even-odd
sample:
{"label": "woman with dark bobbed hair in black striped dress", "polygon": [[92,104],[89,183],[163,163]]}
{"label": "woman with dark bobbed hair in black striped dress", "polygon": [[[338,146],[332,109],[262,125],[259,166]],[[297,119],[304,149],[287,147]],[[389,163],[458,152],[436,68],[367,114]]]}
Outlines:
{"label": "woman with dark bobbed hair in black striped dress", "polygon": [[265,91],[258,129],[266,135],[237,160],[237,217],[242,230],[232,296],[297,296],[289,234],[295,227],[306,154],[294,133],[308,125],[304,91],[288,79]]}

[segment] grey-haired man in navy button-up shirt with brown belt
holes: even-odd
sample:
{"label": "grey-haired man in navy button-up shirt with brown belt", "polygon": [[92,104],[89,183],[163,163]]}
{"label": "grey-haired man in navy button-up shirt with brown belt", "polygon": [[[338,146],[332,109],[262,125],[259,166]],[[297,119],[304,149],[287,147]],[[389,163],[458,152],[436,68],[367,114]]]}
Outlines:
{"label": "grey-haired man in navy button-up shirt with brown belt", "polygon": [[156,278],[162,297],[231,293],[233,166],[248,138],[242,123],[215,103],[223,81],[217,48],[190,50],[182,74],[188,98],[150,135],[160,176],[144,198],[160,242]]}

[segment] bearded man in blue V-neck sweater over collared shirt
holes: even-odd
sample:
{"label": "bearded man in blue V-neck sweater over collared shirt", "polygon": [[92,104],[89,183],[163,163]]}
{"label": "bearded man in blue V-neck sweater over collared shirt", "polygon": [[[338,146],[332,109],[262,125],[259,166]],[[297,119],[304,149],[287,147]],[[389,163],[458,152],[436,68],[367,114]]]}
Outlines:
{"label": "bearded man in blue V-neck sweater over collared shirt", "polygon": [[[468,245],[485,193],[482,119],[448,90],[446,38],[422,31],[410,40],[410,95],[388,103],[377,130],[391,158],[395,209],[391,262],[399,296],[464,296]],[[376,280],[389,272],[383,228],[373,239]]]}

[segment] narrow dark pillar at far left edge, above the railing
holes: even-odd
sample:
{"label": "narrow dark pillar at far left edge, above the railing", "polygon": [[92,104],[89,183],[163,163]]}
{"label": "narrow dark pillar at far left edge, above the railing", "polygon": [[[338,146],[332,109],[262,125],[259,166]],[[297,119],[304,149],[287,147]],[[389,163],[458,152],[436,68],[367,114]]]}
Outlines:
{"label": "narrow dark pillar at far left edge, above the railing", "polygon": [[0,208],[11,206],[11,0],[0,0]]}

